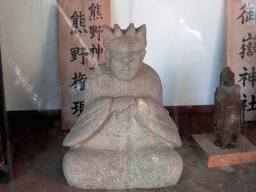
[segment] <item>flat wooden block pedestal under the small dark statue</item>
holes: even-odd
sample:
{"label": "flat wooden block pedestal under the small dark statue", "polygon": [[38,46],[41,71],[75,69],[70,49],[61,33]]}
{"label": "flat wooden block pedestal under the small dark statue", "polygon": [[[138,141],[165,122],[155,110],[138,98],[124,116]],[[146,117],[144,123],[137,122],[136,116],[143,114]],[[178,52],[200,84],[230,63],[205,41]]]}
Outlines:
{"label": "flat wooden block pedestal under the small dark statue", "polygon": [[236,148],[220,148],[214,145],[216,134],[194,134],[193,149],[208,168],[256,162],[256,147],[242,134],[237,138]]}

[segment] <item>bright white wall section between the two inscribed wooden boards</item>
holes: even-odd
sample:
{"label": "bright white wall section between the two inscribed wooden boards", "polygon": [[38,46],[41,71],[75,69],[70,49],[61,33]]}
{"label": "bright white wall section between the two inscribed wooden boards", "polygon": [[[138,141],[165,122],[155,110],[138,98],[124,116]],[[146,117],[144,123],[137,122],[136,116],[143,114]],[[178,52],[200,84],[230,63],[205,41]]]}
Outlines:
{"label": "bright white wall section between the two inscribed wooden boards", "polygon": [[147,24],[147,56],[163,83],[164,105],[214,103],[225,65],[225,1],[112,1],[112,22]]}

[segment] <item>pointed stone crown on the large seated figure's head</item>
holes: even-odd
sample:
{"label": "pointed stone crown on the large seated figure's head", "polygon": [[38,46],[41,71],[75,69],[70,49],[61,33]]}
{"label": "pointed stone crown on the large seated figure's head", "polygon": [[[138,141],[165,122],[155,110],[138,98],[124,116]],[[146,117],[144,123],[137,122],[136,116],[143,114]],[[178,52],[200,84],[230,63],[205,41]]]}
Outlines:
{"label": "pointed stone crown on the large seated figure's head", "polygon": [[118,24],[114,28],[103,25],[104,47],[117,51],[138,51],[147,46],[146,25],[134,28],[129,24],[127,29],[121,29]]}

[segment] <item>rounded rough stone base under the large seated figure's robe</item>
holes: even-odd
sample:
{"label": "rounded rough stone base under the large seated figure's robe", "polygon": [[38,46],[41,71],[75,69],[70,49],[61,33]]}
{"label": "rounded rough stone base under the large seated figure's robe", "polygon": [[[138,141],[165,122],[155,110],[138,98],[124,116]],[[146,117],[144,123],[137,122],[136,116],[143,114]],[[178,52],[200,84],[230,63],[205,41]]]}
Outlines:
{"label": "rounded rough stone base under the large seated figure's robe", "polygon": [[163,188],[177,184],[180,155],[158,145],[125,151],[70,148],[63,172],[70,186],[83,189]]}

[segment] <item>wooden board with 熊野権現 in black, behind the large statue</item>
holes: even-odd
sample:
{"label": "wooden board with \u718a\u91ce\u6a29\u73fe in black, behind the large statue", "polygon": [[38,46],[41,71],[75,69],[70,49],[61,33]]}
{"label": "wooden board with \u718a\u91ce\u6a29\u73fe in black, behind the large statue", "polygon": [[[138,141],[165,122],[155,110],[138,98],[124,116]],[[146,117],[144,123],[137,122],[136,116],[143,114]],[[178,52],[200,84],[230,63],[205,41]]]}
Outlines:
{"label": "wooden board with \u718a\u91ce\u6a29\u73fe in black, behind the large statue", "polygon": [[102,24],[110,24],[110,0],[60,0],[60,79],[62,129],[76,123],[84,108],[90,69],[103,63]]}

